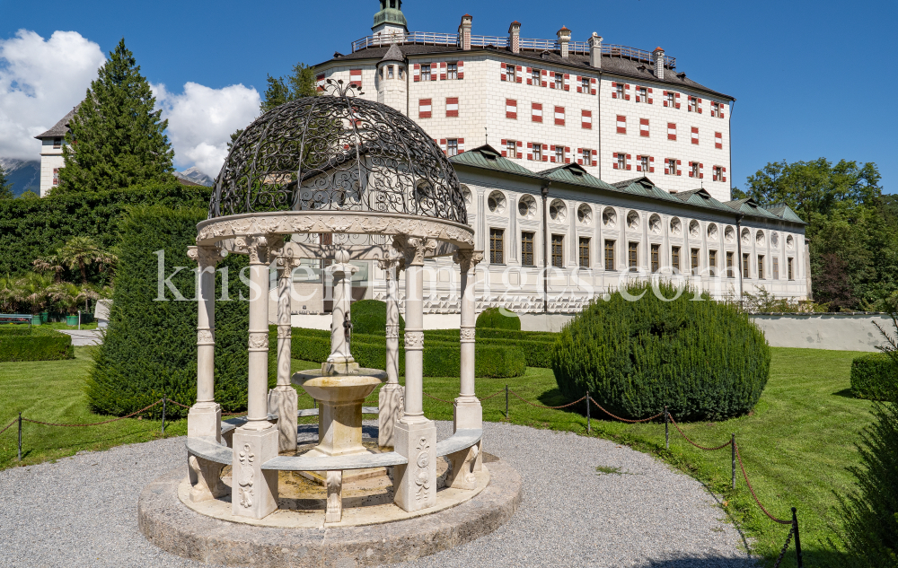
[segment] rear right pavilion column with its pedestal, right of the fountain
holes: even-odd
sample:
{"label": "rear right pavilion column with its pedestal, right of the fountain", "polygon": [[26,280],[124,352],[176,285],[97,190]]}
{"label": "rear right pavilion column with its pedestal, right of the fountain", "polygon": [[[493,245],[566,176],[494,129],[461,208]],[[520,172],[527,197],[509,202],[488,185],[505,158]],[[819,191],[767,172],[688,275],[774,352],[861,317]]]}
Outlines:
{"label": "rear right pavilion column with its pedestal, right of the fountain", "polygon": [[377,397],[379,409],[377,415],[377,445],[381,447],[395,445],[393,430],[396,421],[404,415],[405,388],[399,384],[399,273],[404,267],[404,260],[399,257],[388,257],[377,261],[378,267],[386,273],[387,284],[387,384],[383,385]]}

